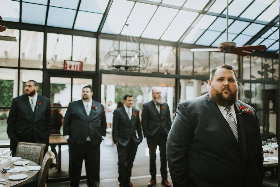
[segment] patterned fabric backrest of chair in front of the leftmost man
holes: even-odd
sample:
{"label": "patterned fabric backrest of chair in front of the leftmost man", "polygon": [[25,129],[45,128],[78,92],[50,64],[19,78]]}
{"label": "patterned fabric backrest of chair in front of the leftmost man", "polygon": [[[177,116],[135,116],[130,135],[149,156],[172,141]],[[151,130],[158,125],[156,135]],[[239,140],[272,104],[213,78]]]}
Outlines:
{"label": "patterned fabric backrest of chair in front of the leftmost man", "polygon": [[41,165],[45,147],[46,144],[42,143],[19,142],[15,151],[15,156],[31,160]]}

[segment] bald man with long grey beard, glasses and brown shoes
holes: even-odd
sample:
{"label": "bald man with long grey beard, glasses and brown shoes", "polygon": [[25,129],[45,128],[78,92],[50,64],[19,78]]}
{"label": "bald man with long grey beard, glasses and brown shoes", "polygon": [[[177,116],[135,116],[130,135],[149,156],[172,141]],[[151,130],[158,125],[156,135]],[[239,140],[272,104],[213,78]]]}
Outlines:
{"label": "bald man with long grey beard, glasses and brown shoes", "polygon": [[164,186],[171,186],[167,181],[167,159],[166,159],[166,140],[170,131],[171,120],[168,104],[161,97],[161,90],[154,88],[152,90],[153,100],[145,103],[142,110],[142,127],[144,137],[147,138],[147,144],[150,153],[150,173],[151,180],[148,186],[156,184],[156,148],[160,150],[160,173],[161,183]]}

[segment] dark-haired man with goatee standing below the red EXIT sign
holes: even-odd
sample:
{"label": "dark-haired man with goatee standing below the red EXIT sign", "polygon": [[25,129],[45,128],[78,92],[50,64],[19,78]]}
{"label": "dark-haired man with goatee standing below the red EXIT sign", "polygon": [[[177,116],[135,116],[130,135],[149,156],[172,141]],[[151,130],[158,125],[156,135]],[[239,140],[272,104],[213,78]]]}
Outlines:
{"label": "dark-haired man with goatee standing below the red EXIT sign", "polygon": [[93,101],[92,95],[91,86],[85,86],[82,99],[69,103],[64,117],[63,135],[69,145],[71,187],[79,186],[83,160],[87,186],[96,187],[96,157],[102,136],[106,135],[106,117],[103,105]]}

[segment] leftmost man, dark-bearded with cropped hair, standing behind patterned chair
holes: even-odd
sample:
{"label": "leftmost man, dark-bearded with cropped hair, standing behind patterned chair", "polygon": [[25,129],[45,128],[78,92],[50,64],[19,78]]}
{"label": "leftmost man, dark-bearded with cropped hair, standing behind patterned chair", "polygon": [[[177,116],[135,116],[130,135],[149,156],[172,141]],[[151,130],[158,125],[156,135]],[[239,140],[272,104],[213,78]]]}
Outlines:
{"label": "leftmost man, dark-bearded with cropped hair, standing behind patterned chair", "polygon": [[12,101],[7,120],[7,134],[10,149],[15,155],[18,142],[45,143],[46,150],[51,132],[50,99],[38,95],[38,83],[29,80],[25,83],[25,95],[15,97]]}

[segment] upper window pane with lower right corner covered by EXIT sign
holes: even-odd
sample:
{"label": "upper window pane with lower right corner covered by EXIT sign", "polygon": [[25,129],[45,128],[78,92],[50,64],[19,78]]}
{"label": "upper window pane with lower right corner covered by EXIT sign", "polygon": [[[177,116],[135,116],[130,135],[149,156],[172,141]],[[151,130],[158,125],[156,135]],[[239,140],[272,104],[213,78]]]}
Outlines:
{"label": "upper window pane with lower right corner covered by EXIT sign", "polygon": [[72,36],[47,34],[47,68],[63,69],[64,60],[71,60]]}

